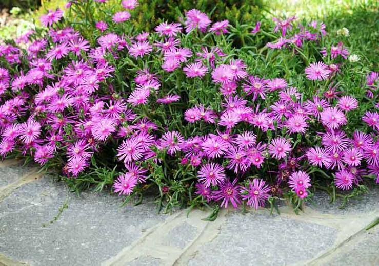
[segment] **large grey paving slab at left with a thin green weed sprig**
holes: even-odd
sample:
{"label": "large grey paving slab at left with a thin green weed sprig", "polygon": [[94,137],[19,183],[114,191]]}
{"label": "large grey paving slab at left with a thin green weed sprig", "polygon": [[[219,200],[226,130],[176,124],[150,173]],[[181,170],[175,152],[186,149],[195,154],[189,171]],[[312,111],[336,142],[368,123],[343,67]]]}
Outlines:
{"label": "large grey paving slab at left with a thin green weed sprig", "polygon": [[67,194],[48,177],[26,184],[0,205],[0,252],[30,265],[99,265],[167,217],[150,203],[119,205],[106,193]]}

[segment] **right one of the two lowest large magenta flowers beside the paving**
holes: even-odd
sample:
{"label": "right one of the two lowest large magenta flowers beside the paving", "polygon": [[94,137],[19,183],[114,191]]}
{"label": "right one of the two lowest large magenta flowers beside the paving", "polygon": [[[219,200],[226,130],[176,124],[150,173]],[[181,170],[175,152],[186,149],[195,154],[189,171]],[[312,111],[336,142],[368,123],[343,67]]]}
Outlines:
{"label": "right one of the two lowest large magenta flowers beside the paving", "polygon": [[265,201],[270,196],[269,191],[270,187],[264,180],[254,179],[253,182],[249,182],[248,188],[242,187],[241,193],[247,193],[242,194],[242,199],[247,200],[247,205],[257,210],[265,206]]}

